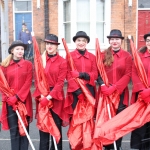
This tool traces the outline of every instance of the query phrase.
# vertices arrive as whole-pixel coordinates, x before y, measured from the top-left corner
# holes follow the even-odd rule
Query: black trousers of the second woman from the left
[[[54,122],[55,122],[55,124],[56,124],[56,126],[57,126],[57,128],[58,128],[58,130],[60,132],[60,135],[61,135],[59,143],[57,144],[57,148],[58,148],[58,150],[62,150],[62,128],[61,128],[62,120],[51,109],[50,109],[50,112],[52,114]],[[47,133],[47,132],[40,131],[40,130],[39,130],[39,133],[40,133],[40,146],[39,146],[39,150],[49,150],[50,134]],[[51,136],[51,148],[50,148],[50,150],[55,150],[54,141],[53,141],[53,137],[52,136]]]

